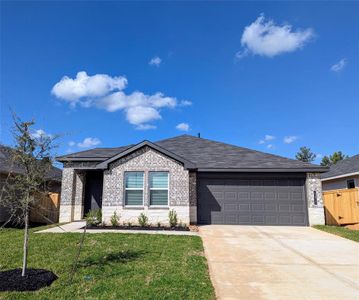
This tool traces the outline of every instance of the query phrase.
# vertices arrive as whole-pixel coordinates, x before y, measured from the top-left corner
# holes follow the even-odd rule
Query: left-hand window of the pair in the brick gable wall
[[[125,205],[143,205],[143,172],[125,173]]]

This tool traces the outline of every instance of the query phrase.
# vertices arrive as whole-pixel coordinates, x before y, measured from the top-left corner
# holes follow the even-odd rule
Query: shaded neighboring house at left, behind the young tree
[[[13,162],[12,152],[14,149],[8,146],[0,145],[0,193],[6,180],[8,180],[9,173],[18,175],[23,173],[23,169],[19,164]],[[52,167],[47,175],[47,186],[50,192],[61,192],[61,177],[62,171],[59,168]],[[7,221],[9,214],[6,207],[0,206],[0,223]]]

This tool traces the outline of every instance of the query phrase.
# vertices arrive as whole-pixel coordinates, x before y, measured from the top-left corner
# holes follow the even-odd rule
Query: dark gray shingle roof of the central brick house
[[[327,169],[273,154],[229,145],[221,142],[181,135],[154,144],[194,163],[198,169],[311,169],[324,172]],[[130,146],[119,148],[96,148],[61,156],[59,161],[96,158],[102,161],[119,154]]]

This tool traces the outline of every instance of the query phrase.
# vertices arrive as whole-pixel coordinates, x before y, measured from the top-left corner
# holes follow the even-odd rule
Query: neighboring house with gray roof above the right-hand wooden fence
[[[359,154],[337,162],[321,178],[323,191],[359,187]]]

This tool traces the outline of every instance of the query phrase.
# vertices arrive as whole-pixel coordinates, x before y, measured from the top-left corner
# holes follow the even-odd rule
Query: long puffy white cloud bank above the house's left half
[[[95,84],[96,83],[96,84]],[[110,77],[106,74],[88,76],[79,72],[75,79],[65,76],[52,89],[52,93],[72,106],[97,107],[108,112],[122,110],[127,121],[137,129],[153,129],[149,122],[161,119],[160,111],[165,108],[189,106],[189,100],[178,101],[175,97],[165,96],[161,92],[146,95],[140,91],[126,94],[125,77]],[[97,87],[97,88],[95,88]]]

